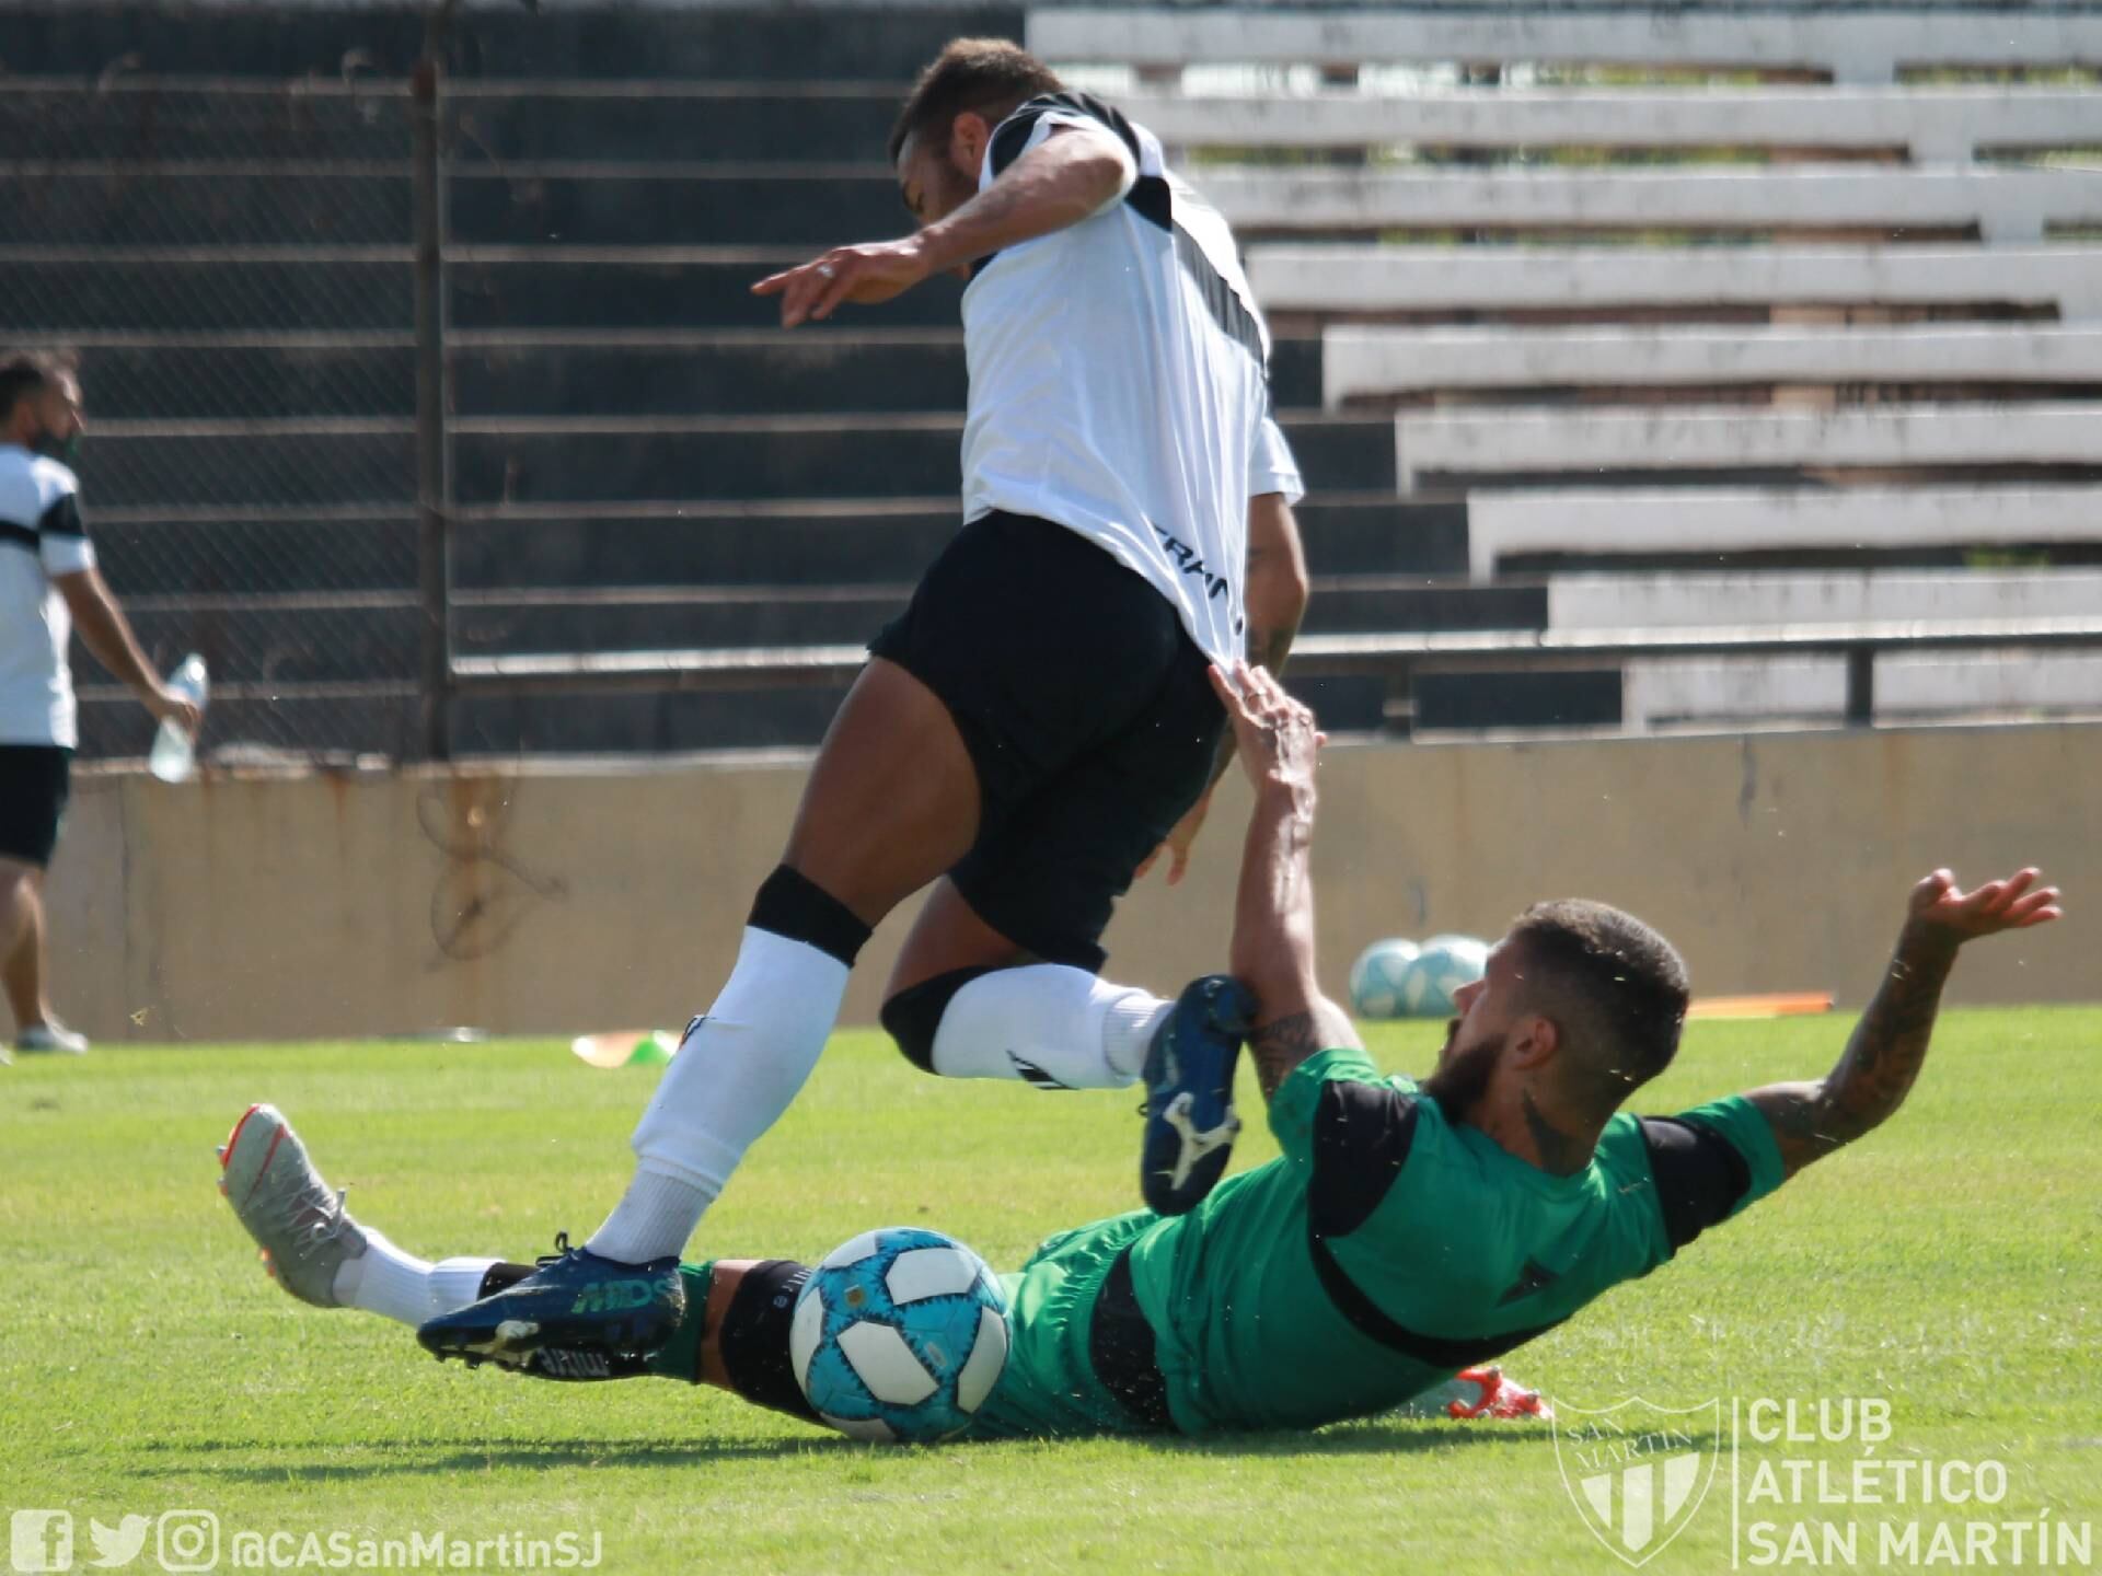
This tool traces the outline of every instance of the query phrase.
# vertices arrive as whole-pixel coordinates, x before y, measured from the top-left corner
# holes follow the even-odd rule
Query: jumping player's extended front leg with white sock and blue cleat
[[[687,1030],[635,1128],[637,1173],[580,1250],[433,1320],[439,1353],[647,1353],[679,1326],[677,1254],[744,1152],[818,1065],[870,929],[965,855],[980,790],[948,708],[870,660],[826,731],[729,983]]]

